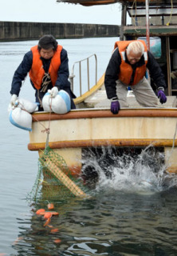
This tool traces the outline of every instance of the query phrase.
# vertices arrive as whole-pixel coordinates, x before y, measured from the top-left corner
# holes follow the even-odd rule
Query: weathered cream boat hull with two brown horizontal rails
[[[50,121],[49,121],[50,120]],[[174,140],[177,111],[175,109],[73,110],[68,114],[33,114],[29,150],[45,149],[45,128],[50,129],[49,146],[61,154],[69,168],[81,170],[81,149],[92,146],[148,146],[164,147],[167,155]],[[37,122],[38,121],[38,122]],[[176,148],[168,162],[170,171],[177,170]]]

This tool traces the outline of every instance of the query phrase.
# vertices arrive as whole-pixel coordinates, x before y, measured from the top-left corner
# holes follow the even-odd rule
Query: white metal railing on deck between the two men
[[[82,95],[82,82],[81,82],[81,72],[82,72],[82,70],[81,70],[81,68],[82,68],[82,66],[81,66],[81,62],[84,62],[84,61],[86,61],[87,62],[87,81],[88,81],[88,90],[90,90],[90,67],[89,67],[89,59],[92,57],[92,56],[94,56],[95,57],[95,84],[96,84],[96,82],[97,82],[97,57],[96,57],[96,54],[92,54],[92,55],[90,55],[90,56],[88,56],[88,58],[84,58],[84,59],[82,59],[81,61],[78,61],[78,62],[74,62],[74,64],[73,64],[73,67],[72,67],[72,70],[71,70],[71,75],[69,76],[69,81],[71,82],[71,88],[72,88],[72,90],[73,90],[73,78],[75,78],[75,75],[74,75],[74,66],[76,65],[76,64],[79,64],[79,81],[80,81],[80,96]]]

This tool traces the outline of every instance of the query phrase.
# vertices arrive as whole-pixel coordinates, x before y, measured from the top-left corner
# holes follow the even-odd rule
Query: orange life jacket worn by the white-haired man
[[[126,85],[130,84],[131,77],[132,77],[132,66],[125,62],[125,50],[130,42],[134,42],[137,40],[132,41],[118,41],[115,43],[114,49],[116,47],[119,48],[120,56],[121,56],[121,64],[120,64],[120,73],[119,73],[119,80],[121,82],[124,82]],[[144,61],[145,64],[143,66],[136,67],[136,73],[133,79],[133,82],[131,86],[136,85],[138,82],[140,82],[141,79],[144,78],[144,74],[146,73],[146,65],[148,63],[148,47],[146,46],[146,43],[144,40],[138,40],[140,42],[143,42],[144,44]]]

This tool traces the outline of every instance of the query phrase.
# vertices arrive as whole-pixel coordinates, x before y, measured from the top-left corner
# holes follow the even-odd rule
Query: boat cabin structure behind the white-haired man
[[[126,24],[127,14],[132,25]],[[120,40],[144,38],[163,70],[166,94],[177,95],[177,1],[128,1],[121,26]]]

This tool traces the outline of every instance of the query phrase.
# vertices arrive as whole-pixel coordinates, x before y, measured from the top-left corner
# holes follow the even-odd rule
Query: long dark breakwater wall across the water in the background
[[[63,38],[119,37],[120,26],[81,23],[0,22],[0,42],[38,40],[44,34]]]

